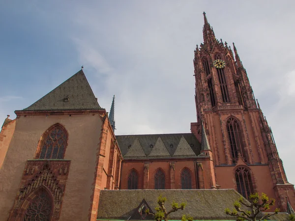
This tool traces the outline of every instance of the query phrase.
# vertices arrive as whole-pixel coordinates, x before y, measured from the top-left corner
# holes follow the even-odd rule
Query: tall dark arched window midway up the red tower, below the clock
[[[240,128],[238,120],[234,117],[230,117],[226,122],[226,127],[231,146],[233,163],[236,163],[238,154],[240,154],[241,157],[245,160],[245,162],[247,162],[243,146],[242,130]]]

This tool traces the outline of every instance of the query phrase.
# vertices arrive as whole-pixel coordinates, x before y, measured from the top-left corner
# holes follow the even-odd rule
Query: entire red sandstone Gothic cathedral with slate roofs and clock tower
[[[146,209],[155,211],[160,194],[167,207],[187,202],[171,220],[234,219],[224,209],[251,193],[275,199],[281,213],[272,219],[294,213],[294,185],[235,44],[216,39],[205,12],[203,36],[190,133],[115,135],[115,96],[108,113],[83,69],[15,119],[7,115],[0,221],[153,220]]]

